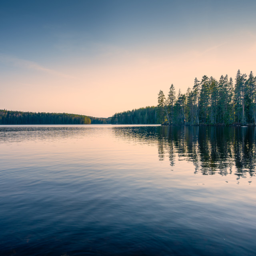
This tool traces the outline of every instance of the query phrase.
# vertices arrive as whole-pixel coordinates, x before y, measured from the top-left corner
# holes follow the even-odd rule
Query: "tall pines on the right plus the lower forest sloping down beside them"
[[[233,82],[228,75],[216,80],[203,76],[192,88],[176,96],[174,85],[167,98],[160,90],[158,106],[116,113],[112,124],[245,125],[256,124],[256,78],[238,70]]]

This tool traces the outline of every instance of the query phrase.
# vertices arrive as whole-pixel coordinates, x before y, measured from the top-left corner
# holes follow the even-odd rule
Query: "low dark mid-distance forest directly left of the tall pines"
[[[148,106],[116,113],[111,118],[111,124],[160,124],[160,122],[157,108]]]

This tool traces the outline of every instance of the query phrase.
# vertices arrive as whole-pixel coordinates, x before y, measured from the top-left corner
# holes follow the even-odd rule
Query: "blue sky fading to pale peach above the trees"
[[[109,117],[256,75],[255,0],[0,2],[0,109]]]

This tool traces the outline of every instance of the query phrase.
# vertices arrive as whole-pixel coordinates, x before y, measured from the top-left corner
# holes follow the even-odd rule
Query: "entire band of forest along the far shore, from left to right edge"
[[[256,77],[238,70],[235,82],[228,75],[216,80],[204,75],[185,94],[176,96],[174,85],[167,98],[160,90],[158,105],[96,118],[67,113],[0,110],[0,124],[162,124],[256,125]]]

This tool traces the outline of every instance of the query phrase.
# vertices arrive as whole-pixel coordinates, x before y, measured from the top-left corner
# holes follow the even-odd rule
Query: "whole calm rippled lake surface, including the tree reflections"
[[[255,255],[256,128],[0,126],[0,255]]]

